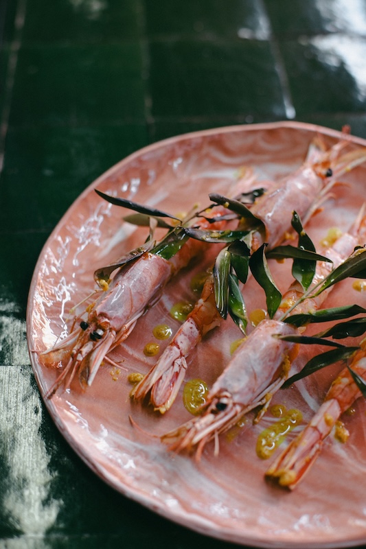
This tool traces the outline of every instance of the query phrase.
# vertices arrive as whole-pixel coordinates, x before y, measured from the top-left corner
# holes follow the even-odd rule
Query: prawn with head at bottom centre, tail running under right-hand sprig
[[[366,217],[357,220],[350,229],[322,255],[332,259],[334,268],[339,266],[351,253],[360,240],[365,240]],[[313,287],[330,272],[330,264],[319,261],[314,275]],[[293,285],[282,300],[282,312],[290,309],[293,297]],[[319,294],[317,301],[306,299],[301,305],[302,312],[319,307],[328,288]],[[295,308],[292,312],[297,312]],[[201,456],[205,443],[235,425],[240,417],[261,406],[255,417],[258,422],[266,412],[273,394],[284,383],[290,371],[291,362],[297,355],[298,345],[273,336],[295,336],[299,329],[279,318],[264,319],[249,334],[248,338],[233,353],[231,361],[214,383],[205,405],[203,414],[181,427],[162,436],[162,441],[170,443],[176,452],[191,449],[197,445],[197,458]]]

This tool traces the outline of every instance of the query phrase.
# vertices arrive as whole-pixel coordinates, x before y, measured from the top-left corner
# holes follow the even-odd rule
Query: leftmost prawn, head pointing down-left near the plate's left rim
[[[247,170],[233,188],[234,196],[253,189],[253,181],[253,172]],[[224,207],[211,205],[205,217],[195,222],[203,229],[223,229],[229,213]],[[90,386],[106,354],[126,340],[138,318],[159,299],[168,281],[201,253],[204,246],[203,242],[188,239],[169,259],[153,253],[154,250],[146,251],[115,270],[113,279],[103,284],[106,290],[89,307],[87,316],[78,318],[78,327],[43,353],[47,365],[65,362],[47,397],[52,397],[67,377],[65,388],[68,389],[77,371],[80,384]]]

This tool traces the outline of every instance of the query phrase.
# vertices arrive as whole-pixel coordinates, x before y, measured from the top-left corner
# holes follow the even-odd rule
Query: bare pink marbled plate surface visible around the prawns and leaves
[[[243,167],[253,167],[259,180],[293,170],[304,160],[317,132],[330,144],[340,138],[332,130],[291,122],[183,135],[132,154],[84,191],[45,244],[30,289],[28,342],[42,395],[57,372],[43,365],[40,351],[65,336],[69,310],[94,288],[95,268],[134,248],[146,235],[146,229],[122,222],[126,212],[100,199],[95,188],[172,213],[186,210],[192,202],[207,204],[209,191],[227,193]],[[350,141],[351,148],[366,145],[361,139],[351,137]],[[350,225],[365,196],[366,166],[342,181],[347,185],[334,189],[334,198],[308,225],[314,242],[330,226],[347,229]],[[206,266],[211,259],[205,258]],[[256,427],[248,422],[230,436],[222,436],[218,457],[209,443],[199,463],[192,456],[172,454],[159,439],[144,433],[163,434],[192,417],[181,395],[163,417],[131,403],[127,375],[148,371],[155,358],[147,358],[143,349],[154,340],[152,327],[169,323],[177,329],[169,310],[177,301],[194,299],[189,281],[202,268],[195,263],[182,272],[139,320],[124,347],[113,353],[121,368],[104,364],[88,390],[74,382],[71,391],[58,390],[53,399],[46,399],[56,425],[91,469],[115,489],[201,533],[260,547],[330,548],[365,543],[366,493],[360,480],[366,474],[366,408],[361,399],[355,413],[344,420],[351,433],[347,444],[329,437],[310,474],[292,493],[264,481],[271,460],[255,454],[258,434],[273,418],[265,418]],[[286,265],[273,268],[284,290],[289,281],[283,274]],[[263,306],[258,288],[246,293],[249,309]],[[334,290],[327,306],[347,301],[366,305],[350,281]],[[231,320],[213,331],[194,353],[187,379],[200,377],[210,385],[229,360],[231,342],[239,337]],[[297,365],[305,358],[303,351]],[[279,391],[275,402],[295,406],[304,420],[309,419],[335,371],[322,371],[297,388]],[[144,432],[131,425],[129,415]]]

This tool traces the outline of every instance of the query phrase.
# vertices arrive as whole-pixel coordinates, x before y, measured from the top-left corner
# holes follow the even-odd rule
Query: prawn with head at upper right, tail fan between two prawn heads
[[[251,213],[262,224],[260,229],[252,233],[251,251],[264,242],[268,243],[269,248],[282,242],[291,229],[290,216],[286,212],[296,209],[301,217],[310,217],[336,177],[366,159],[365,150],[356,150],[339,158],[339,152],[345,144],[345,141],[341,141],[334,148],[324,151],[323,143],[312,143],[304,165],[271,185],[271,190],[255,201]],[[179,328],[157,364],[133,388],[131,396],[135,400],[142,400],[150,393],[150,402],[155,410],[164,413],[172,406],[185,377],[188,354],[192,353],[208,331],[220,325],[213,285],[213,277],[209,277],[193,312]]]

